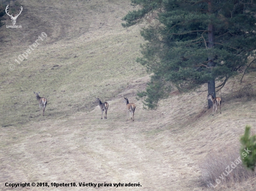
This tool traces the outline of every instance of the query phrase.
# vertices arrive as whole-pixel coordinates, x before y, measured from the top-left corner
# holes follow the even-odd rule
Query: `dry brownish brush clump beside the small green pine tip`
[[[245,169],[242,165],[239,144],[233,144],[209,153],[201,165],[202,181],[208,187],[227,188],[250,178],[256,177],[256,172]]]

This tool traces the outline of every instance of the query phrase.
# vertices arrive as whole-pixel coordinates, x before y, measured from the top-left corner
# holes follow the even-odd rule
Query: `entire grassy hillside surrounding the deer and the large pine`
[[[246,96],[256,89],[255,72],[242,84],[241,75],[230,79],[218,92],[222,114],[212,116],[204,108],[205,92],[175,91],[156,110],[145,110],[135,99],[149,80],[135,62],[143,24],[121,27],[121,18],[133,9],[129,0],[20,5],[22,28],[0,28],[0,190],[9,190],[6,182],[140,182],[141,187],[101,189],[213,190],[202,182],[202,163],[220,148],[224,153],[233,148],[246,124],[256,128],[256,99]],[[47,38],[27,60],[15,63],[41,32]],[[9,64],[15,69],[8,70]],[[48,100],[45,117],[34,91]],[[127,117],[124,96],[137,105],[135,121]],[[95,97],[109,103],[107,120],[100,119]],[[253,191],[255,183],[249,178],[215,190]]]

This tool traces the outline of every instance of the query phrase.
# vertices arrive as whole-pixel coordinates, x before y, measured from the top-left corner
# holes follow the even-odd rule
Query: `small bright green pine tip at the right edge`
[[[244,135],[241,137],[242,144],[240,149],[243,165],[250,170],[254,170],[256,166],[256,135],[250,136],[249,126],[245,127]]]

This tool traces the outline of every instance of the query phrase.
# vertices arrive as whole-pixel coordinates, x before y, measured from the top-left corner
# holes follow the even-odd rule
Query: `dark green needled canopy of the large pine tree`
[[[216,96],[216,89],[254,56],[256,0],[131,1],[140,9],[123,18],[124,27],[154,18],[141,30],[146,43],[137,58],[153,73],[146,91],[138,93],[147,96],[148,108],[168,96],[171,84],[190,90],[208,83],[208,93]],[[222,81],[217,87],[216,80]]]

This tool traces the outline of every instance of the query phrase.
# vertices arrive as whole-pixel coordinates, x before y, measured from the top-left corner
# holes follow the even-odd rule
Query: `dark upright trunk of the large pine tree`
[[[212,0],[208,2],[208,11],[209,14],[212,14]],[[208,48],[214,48],[214,42],[215,42],[215,36],[214,36],[214,25],[210,22],[208,25]],[[211,52],[211,51],[209,51]],[[209,67],[214,67],[214,56],[211,53],[208,56],[208,66]],[[216,97],[216,92],[215,92],[215,78],[209,80],[208,82],[208,94],[213,94],[214,97]],[[213,106],[213,103],[211,100],[208,100],[208,109]]]

